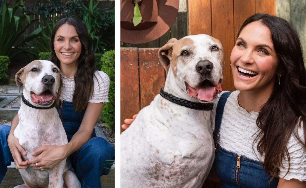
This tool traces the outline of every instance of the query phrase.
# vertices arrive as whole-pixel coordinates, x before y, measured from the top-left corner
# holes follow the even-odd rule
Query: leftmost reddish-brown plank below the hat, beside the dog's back
[[[121,123],[139,112],[138,49],[121,48],[120,101]],[[121,132],[123,129],[121,129]]]

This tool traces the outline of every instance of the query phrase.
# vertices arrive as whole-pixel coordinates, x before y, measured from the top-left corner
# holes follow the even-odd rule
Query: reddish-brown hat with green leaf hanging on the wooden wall
[[[178,7],[179,0],[121,0],[121,41],[142,44],[161,37],[174,23]]]

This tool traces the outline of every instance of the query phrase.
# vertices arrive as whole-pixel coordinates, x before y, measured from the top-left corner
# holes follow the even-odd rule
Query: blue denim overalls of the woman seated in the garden
[[[63,122],[68,141],[79,129],[84,112],[75,112],[72,103],[63,101],[58,107],[60,119]],[[13,157],[9,151],[7,144],[7,137],[9,134],[10,126],[0,126],[0,183],[4,178],[7,165],[11,164]],[[88,140],[78,151],[72,153],[68,158],[76,172],[76,176],[80,180],[82,187],[101,187],[100,176],[107,175],[114,160],[115,151],[114,147],[109,144],[105,139],[96,137],[95,131]],[[30,168],[30,167],[29,167]]]

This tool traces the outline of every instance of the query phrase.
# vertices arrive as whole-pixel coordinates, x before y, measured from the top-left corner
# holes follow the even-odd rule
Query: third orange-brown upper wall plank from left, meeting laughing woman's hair
[[[244,21],[255,14],[255,0],[234,0],[234,41]]]

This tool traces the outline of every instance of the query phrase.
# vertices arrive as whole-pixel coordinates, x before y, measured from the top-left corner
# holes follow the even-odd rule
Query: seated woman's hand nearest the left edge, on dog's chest
[[[13,134],[9,134],[7,138],[7,143],[9,145],[9,150],[12,153],[13,159],[15,161],[16,169],[26,169],[28,168],[28,161],[22,161],[21,154],[26,155],[27,152],[24,148],[19,144],[19,139],[14,137]]]

